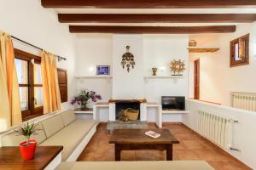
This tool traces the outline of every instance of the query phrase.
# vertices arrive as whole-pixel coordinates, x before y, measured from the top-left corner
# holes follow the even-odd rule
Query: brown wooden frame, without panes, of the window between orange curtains
[[[20,87],[28,88],[28,110],[21,111],[22,121],[27,121],[37,116],[42,116],[44,114],[44,107],[34,107],[34,88],[35,87],[43,87],[43,84],[34,84],[34,68],[31,60],[34,59],[34,63],[41,65],[41,58],[34,54],[29,54],[20,49],[15,48],[15,59],[21,59],[27,61],[27,76],[28,82],[27,84],[20,84]]]

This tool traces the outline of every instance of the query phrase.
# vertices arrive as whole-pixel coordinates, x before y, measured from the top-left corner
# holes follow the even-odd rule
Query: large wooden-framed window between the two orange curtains
[[[23,121],[43,115],[40,63],[40,57],[15,49],[15,65],[20,86],[20,108]]]

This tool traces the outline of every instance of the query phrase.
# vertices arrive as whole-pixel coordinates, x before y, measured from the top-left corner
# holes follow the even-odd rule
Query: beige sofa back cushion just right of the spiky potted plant
[[[61,115],[49,117],[48,119],[42,121],[42,124],[44,126],[44,132],[47,138],[54,135],[64,127],[64,122]]]

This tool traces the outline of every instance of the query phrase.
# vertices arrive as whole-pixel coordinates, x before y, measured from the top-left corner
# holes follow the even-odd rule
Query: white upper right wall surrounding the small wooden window
[[[250,65],[230,68],[230,41],[250,33]],[[190,35],[199,48],[220,48],[214,54],[190,54],[190,64],[194,58],[201,59],[201,99],[230,105],[230,92],[256,92],[253,79],[256,70],[256,23],[241,24],[235,33]],[[193,71],[191,70],[190,72]],[[193,77],[193,75],[190,75]],[[190,81],[190,86],[193,87]],[[193,94],[190,90],[190,97]]]

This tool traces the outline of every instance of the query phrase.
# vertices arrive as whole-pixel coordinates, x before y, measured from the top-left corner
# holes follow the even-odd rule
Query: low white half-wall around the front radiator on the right
[[[225,150],[253,169],[256,168],[256,136],[253,135],[253,132],[256,130],[256,115],[254,112],[243,111],[227,106],[207,104],[196,100],[189,100],[187,103],[189,114],[183,115],[183,123],[195,130],[195,132],[198,132],[197,118],[199,110],[238,120],[238,123],[233,124],[232,147],[240,149],[241,152]]]

